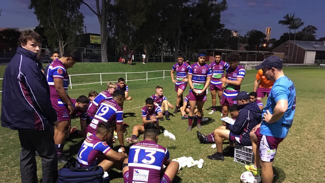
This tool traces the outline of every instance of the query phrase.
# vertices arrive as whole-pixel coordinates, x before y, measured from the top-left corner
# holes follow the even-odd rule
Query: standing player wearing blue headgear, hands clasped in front
[[[189,112],[187,131],[192,130],[195,105],[197,107],[197,128],[201,128],[201,119],[203,115],[203,104],[206,101],[206,89],[211,80],[211,68],[205,62],[205,54],[197,54],[197,62],[191,64],[188,69],[189,90]]]

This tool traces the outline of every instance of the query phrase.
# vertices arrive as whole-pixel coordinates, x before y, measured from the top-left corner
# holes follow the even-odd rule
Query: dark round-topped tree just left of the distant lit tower
[[[255,29],[248,30],[245,34],[247,37],[247,44],[246,48],[248,50],[259,50],[260,44],[264,41],[266,35]]]

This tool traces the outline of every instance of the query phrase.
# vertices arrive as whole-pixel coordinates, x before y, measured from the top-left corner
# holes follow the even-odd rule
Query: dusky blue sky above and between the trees
[[[86,1],[94,5],[94,0]],[[265,27],[270,26],[271,37],[279,38],[288,29],[278,24],[278,20],[286,13],[295,12],[304,22],[302,27],[314,25],[318,28],[316,38],[325,36],[325,0],[227,0],[227,3],[228,9],[221,13],[221,23],[240,35],[250,29],[265,32]],[[36,16],[28,5],[29,0],[0,0],[0,27],[37,26]],[[80,11],[87,32],[99,33],[97,17],[85,5],[81,5]]]

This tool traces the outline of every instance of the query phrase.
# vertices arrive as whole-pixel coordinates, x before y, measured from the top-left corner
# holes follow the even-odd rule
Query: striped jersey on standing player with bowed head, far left
[[[54,86],[54,78],[63,79],[63,88],[65,92],[67,92],[67,88],[69,86],[69,76],[67,74],[65,66],[59,59],[55,59],[52,63],[49,64],[46,75],[50,97],[59,98],[60,96],[57,94]]]

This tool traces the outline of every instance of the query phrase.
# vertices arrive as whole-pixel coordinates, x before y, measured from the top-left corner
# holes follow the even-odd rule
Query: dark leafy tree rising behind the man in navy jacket
[[[39,25],[44,27],[48,43],[58,45],[61,56],[76,34],[82,32],[80,4],[81,0],[30,0],[29,8],[34,9]]]

